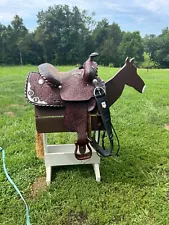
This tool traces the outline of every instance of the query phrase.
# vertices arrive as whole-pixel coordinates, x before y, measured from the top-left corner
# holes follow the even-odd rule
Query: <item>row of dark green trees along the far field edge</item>
[[[94,21],[93,15],[77,6],[54,5],[37,15],[37,27],[30,32],[16,15],[10,25],[0,23],[0,65],[54,65],[83,63],[91,52],[98,52],[101,65],[122,66],[126,56],[135,57],[139,66],[144,53],[154,66],[169,67],[169,29],[141,37],[139,31],[124,32],[107,19]],[[148,65],[147,65],[148,66]]]

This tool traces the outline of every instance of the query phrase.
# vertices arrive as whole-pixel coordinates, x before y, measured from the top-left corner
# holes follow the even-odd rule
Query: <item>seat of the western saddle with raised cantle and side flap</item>
[[[59,72],[53,65],[44,63],[38,66],[40,75],[51,86],[60,89],[64,101],[88,101],[93,97],[93,85],[83,79],[84,69]]]

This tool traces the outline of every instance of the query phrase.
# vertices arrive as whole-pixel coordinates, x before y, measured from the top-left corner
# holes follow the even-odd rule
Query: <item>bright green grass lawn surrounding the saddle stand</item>
[[[101,158],[101,183],[91,165],[54,168],[51,185],[33,197],[32,184],[45,177],[45,165],[36,158],[34,108],[24,97],[24,85],[27,73],[36,70],[0,67],[0,146],[29,205],[31,224],[168,225],[169,131],[164,124],[169,123],[169,70],[139,69],[145,93],[126,87],[111,107],[121,151],[118,158]],[[107,80],[117,70],[100,67],[99,74]],[[0,224],[25,224],[24,204],[2,166]]]

